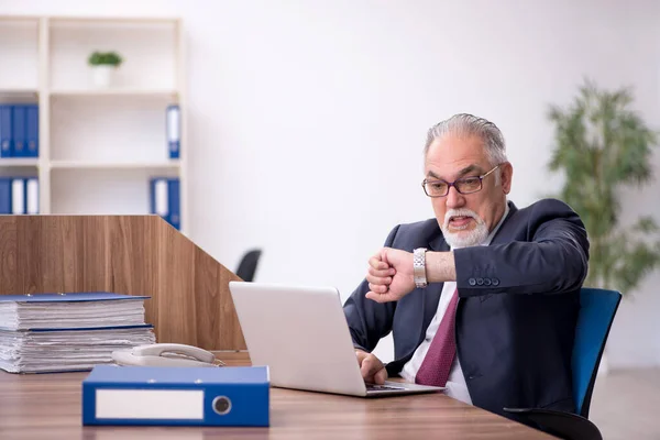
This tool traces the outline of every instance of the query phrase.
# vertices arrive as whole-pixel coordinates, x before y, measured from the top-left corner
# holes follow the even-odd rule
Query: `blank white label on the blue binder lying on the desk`
[[[97,389],[96,417],[204,420],[204,391]]]

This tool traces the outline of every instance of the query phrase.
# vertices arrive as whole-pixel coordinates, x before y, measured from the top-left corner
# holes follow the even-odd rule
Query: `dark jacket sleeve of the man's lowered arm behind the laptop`
[[[385,246],[389,248],[394,243],[394,238],[398,231],[395,227],[387,240]],[[360,286],[346,299],[343,309],[353,339],[353,345],[356,349],[371,352],[376,344],[392,331],[392,321],[396,302],[376,302],[365,298],[369,292],[369,282],[363,279]]]

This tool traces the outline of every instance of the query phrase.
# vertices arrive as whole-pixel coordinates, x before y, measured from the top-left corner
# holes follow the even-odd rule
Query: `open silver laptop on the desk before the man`
[[[268,365],[273,386],[363,397],[444,389],[366,385],[336,288],[243,282],[229,288],[252,364]]]

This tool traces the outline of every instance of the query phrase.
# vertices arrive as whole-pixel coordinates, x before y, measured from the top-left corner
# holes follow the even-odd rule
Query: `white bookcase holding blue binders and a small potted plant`
[[[150,178],[179,177],[188,231],[182,21],[162,18],[0,15],[0,102],[38,103],[38,158],[0,158],[0,176],[38,176],[41,213],[148,213]],[[95,51],[123,63],[96,88]],[[170,160],[166,108],[182,114]]]

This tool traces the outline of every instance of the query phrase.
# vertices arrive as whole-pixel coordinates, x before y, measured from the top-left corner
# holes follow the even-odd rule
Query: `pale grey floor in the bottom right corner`
[[[660,369],[598,376],[590,419],[604,440],[660,440]]]

